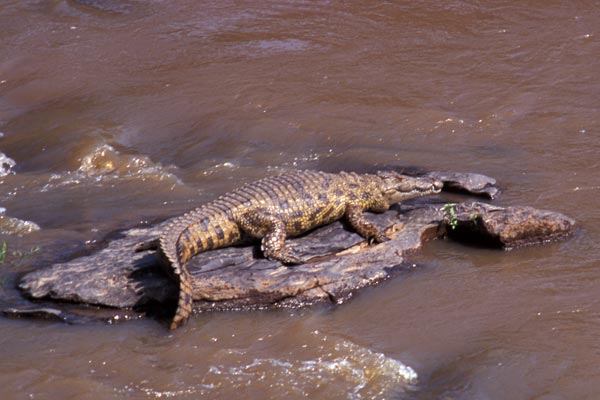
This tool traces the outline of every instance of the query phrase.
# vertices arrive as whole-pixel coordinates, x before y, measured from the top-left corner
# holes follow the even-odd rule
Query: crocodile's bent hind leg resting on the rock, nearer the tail
[[[269,260],[288,265],[303,264],[304,260],[285,247],[286,230],[283,221],[265,211],[248,211],[236,221],[253,237],[262,238],[260,249]]]

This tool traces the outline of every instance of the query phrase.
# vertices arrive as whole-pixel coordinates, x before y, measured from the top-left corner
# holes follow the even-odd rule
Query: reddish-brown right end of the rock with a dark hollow
[[[532,207],[495,207],[484,203],[447,205],[440,233],[461,241],[506,249],[561,239],[575,221]]]

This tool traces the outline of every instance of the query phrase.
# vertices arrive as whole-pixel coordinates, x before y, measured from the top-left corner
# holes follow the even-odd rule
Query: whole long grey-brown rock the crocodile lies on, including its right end
[[[470,176],[463,175],[465,182]],[[258,245],[193,257],[188,267],[195,311],[341,303],[354,291],[406,268],[407,254],[437,236],[467,241],[475,237],[496,247],[515,247],[561,238],[575,226],[572,219],[550,211],[478,202],[444,205],[436,197],[368,218],[392,240],[368,245],[336,222],[289,241],[292,250],[308,260],[298,266],[264,259]],[[30,272],[23,276],[20,288],[33,299],[119,309],[159,304],[164,310],[167,303],[174,309],[177,287],[158,266],[156,253],[134,251],[138,243],[158,237],[168,222],[126,230],[90,255]],[[171,307],[167,311],[172,312]],[[32,314],[31,308],[26,312]],[[17,313],[11,308],[11,315]]]

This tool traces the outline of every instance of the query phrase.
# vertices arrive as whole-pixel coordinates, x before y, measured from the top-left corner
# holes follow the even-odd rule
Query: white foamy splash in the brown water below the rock
[[[255,358],[237,366],[212,366],[202,383],[204,387],[225,384],[245,389],[260,381],[269,381],[270,387],[293,397],[311,398],[315,392],[332,391],[344,393],[340,398],[358,400],[405,392],[417,382],[417,374],[398,360],[343,340],[315,359]]]

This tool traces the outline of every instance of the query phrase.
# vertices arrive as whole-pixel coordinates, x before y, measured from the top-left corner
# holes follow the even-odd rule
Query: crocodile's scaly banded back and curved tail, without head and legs
[[[379,178],[354,173],[289,171],[246,184],[175,219],[160,237],[160,248],[179,281],[179,301],[171,329],[192,311],[192,280],[185,263],[195,254],[238,243],[236,220],[248,212],[269,212],[284,222],[288,236],[340,219],[351,201],[369,208]],[[375,199],[375,200],[374,200]]]

